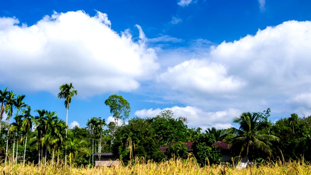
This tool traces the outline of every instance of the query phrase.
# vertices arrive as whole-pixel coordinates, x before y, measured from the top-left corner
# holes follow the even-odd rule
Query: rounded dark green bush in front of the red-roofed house
[[[216,142],[214,135],[201,134],[196,137],[192,144],[193,154],[201,165],[214,164],[222,161],[221,150],[212,146]]]

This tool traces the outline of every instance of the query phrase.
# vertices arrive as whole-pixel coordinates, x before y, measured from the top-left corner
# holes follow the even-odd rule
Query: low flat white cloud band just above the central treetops
[[[155,117],[162,110],[172,110],[176,117],[182,116],[188,119],[189,127],[201,127],[203,130],[208,127],[228,128],[234,117],[239,117],[240,110],[229,108],[223,111],[206,112],[197,107],[173,106],[164,109],[142,109],[135,112],[138,117]]]

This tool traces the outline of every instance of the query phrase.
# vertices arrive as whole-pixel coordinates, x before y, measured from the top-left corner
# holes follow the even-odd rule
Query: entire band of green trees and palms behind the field
[[[65,99],[67,118],[71,98],[77,94],[71,83],[60,87],[58,97]],[[115,122],[105,123],[104,119],[93,117],[86,127],[69,129],[67,121],[59,119],[55,111],[34,110],[23,102],[24,98],[7,88],[0,90],[1,119],[4,114],[7,116],[0,122],[0,159],[6,163],[89,166],[95,163],[92,154],[98,152],[113,152],[127,165],[135,157],[143,157],[145,163],[176,157],[186,160],[189,154],[185,142],[190,141],[192,155],[201,166],[223,161],[221,149],[212,145],[216,141],[229,142],[232,157],[248,156],[253,162],[311,161],[310,116],[292,114],[271,123],[268,108],[242,113],[233,121],[239,128],[213,127],[202,133],[201,128],[188,128],[187,116],[175,117],[170,110],[152,118],[129,119],[130,104],[122,96],[111,95],[103,105],[110,108]],[[126,119],[127,124],[123,123]],[[169,149],[164,153],[160,146]]]

